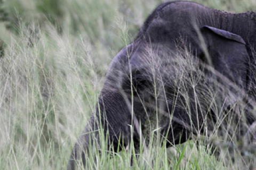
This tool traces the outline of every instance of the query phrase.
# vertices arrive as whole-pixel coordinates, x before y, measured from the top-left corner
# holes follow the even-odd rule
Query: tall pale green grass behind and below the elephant
[[[195,1],[229,12],[256,9],[255,0]],[[0,1],[0,169],[66,169],[94,111],[108,64],[161,2]],[[92,166],[253,169],[226,164],[202,148],[193,141],[171,149],[156,147],[132,167],[130,148],[113,159],[99,156]],[[153,167],[147,166],[151,160]]]

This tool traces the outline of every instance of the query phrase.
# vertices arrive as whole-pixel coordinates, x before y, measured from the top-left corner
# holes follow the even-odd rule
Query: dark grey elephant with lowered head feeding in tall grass
[[[246,108],[244,122],[252,125],[254,49],[255,12],[229,13],[188,1],[159,5],[111,61],[95,114],[73,148],[68,169],[76,169],[78,160],[86,167],[100,131],[115,151],[131,138],[138,146],[147,140],[156,115],[166,147],[205,133],[221,113],[236,114],[230,108],[239,101]]]

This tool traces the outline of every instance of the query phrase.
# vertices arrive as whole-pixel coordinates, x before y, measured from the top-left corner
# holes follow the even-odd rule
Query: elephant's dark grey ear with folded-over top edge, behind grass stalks
[[[245,95],[242,89],[246,89],[246,63],[249,59],[245,41],[239,35],[209,26],[202,27],[201,33],[205,46],[201,43],[203,53],[200,57],[213,68],[217,82],[228,88],[220,90],[219,96],[221,101],[225,100],[226,107]]]

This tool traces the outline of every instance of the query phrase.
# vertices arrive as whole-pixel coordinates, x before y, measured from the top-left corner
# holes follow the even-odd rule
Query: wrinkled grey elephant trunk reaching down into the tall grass
[[[94,150],[100,150],[105,139],[108,146],[113,145],[116,151],[130,141],[131,133],[129,124],[131,114],[129,104],[118,90],[103,89],[96,105],[96,113],[91,116],[82,135],[79,137],[68,163],[68,170],[79,169],[87,166],[87,157],[95,157]]]

